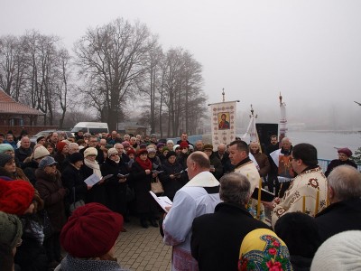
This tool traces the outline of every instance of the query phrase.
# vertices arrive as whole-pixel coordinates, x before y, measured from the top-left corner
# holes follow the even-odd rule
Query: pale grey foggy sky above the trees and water
[[[361,129],[361,1],[8,1],[0,35],[56,34],[71,50],[88,27],[123,17],[145,23],[164,51],[180,46],[203,65],[208,103],[239,99],[259,122]],[[247,122],[246,117],[244,117]]]

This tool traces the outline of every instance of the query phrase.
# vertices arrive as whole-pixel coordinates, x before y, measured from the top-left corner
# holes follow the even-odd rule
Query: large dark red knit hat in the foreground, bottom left
[[[105,255],[116,243],[123,228],[123,217],[99,203],[88,203],[74,210],[61,229],[60,244],[72,257]]]

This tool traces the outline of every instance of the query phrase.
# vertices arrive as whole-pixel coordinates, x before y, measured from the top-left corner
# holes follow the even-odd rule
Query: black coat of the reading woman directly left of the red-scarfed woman
[[[106,162],[100,165],[100,170],[103,176],[113,174],[112,177],[106,179],[106,207],[110,210],[119,212],[125,215],[126,208],[126,184],[127,182],[119,182],[118,173],[123,175],[128,173],[126,164],[121,160],[118,164],[109,158]],[[128,178],[126,178],[128,180]]]

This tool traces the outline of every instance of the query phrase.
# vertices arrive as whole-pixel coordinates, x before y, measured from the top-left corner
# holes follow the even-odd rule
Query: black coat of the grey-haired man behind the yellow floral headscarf
[[[199,270],[238,270],[239,249],[254,229],[270,229],[244,206],[221,202],[215,213],[193,220],[190,248]]]

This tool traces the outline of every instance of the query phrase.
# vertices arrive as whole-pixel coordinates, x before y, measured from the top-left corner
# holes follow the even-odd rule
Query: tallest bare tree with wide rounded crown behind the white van
[[[116,19],[89,29],[75,44],[79,74],[92,86],[90,91],[84,89],[84,94],[97,110],[106,108],[110,129],[116,128],[117,113],[134,90],[136,80],[147,70],[146,53],[155,42],[144,24]]]

